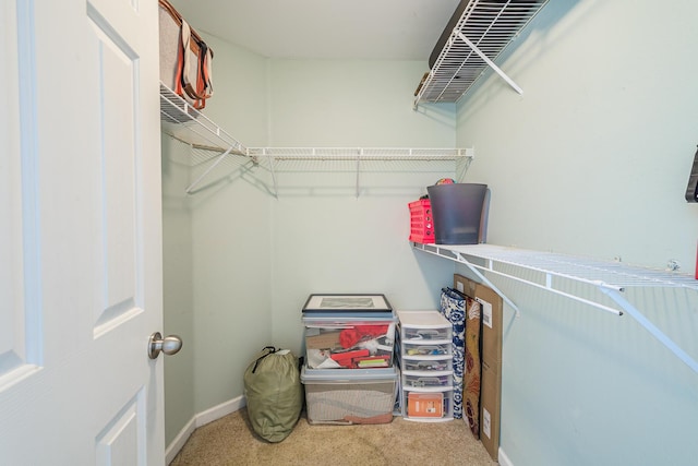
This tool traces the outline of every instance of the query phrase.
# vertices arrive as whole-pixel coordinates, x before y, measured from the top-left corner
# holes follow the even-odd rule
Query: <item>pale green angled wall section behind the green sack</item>
[[[266,60],[216,37],[206,41],[215,94],[205,115],[243,144],[264,145]],[[265,176],[231,157],[191,196],[197,413],[242,395],[245,367],[270,340],[270,199],[257,187]]]

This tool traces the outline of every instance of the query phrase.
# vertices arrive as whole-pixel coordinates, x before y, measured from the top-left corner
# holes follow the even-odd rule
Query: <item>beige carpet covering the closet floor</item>
[[[243,408],[203,426],[170,463],[184,465],[468,465],[492,466],[462,419],[413,422],[396,417],[374,426],[312,426],[305,415],[279,443],[257,437]]]

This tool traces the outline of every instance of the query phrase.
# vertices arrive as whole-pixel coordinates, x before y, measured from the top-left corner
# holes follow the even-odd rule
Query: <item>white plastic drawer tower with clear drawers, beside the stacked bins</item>
[[[397,311],[405,419],[447,421],[453,416],[453,325],[438,311]]]

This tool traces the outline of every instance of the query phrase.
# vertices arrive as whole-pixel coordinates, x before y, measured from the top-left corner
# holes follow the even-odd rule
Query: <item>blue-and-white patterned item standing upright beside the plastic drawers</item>
[[[465,371],[466,299],[453,288],[441,290],[441,313],[453,325],[454,418],[462,418],[462,375]]]

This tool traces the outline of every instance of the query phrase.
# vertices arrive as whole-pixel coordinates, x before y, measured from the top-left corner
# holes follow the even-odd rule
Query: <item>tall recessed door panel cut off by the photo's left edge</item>
[[[0,5],[0,17],[16,14],[13,2]],[[3,26],[0,56],[7,60],[0,72],[0,88],[17,89],[21,70],[16,23],[8,21]],[[23,164],[20,154],[20,98],[19,93],[0,93],[0,390],[33,373],[39,356],[40,315],[32,298],[36,283],[25,277],[32,270],[26,261],[34,256],[28,249],[35,246],[36,225],[23,213],[35,210],[36,170]],[[31,141],[24,145],[31,146]]]

